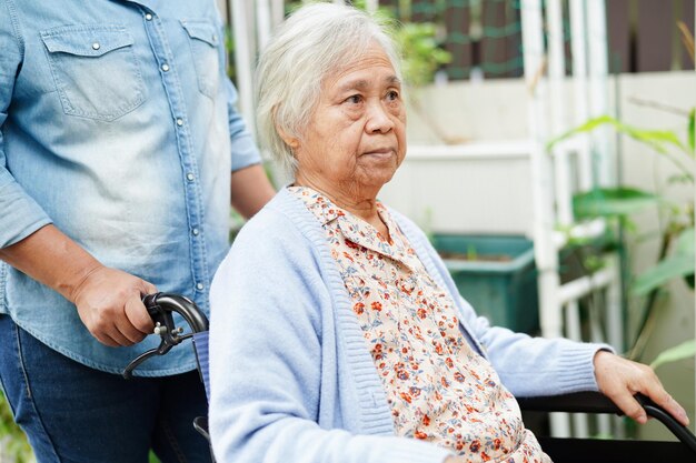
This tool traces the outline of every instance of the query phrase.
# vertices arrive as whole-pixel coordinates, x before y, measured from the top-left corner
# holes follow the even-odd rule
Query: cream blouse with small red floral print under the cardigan
[[[451,449],[458,462],[550,462],[517,402],[459,328],[454,301],[430,278],[387,209],[374,227],[307,187],[290,187],[321,223],[352,301],[397,435]]]

